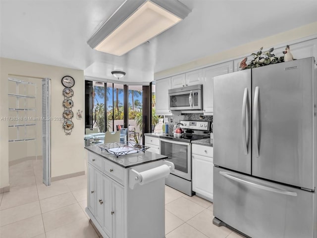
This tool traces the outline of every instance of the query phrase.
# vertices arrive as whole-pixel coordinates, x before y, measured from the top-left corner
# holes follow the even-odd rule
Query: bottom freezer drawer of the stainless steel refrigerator
[[[217,167],[213,173],[217,219],[252,238],[314,238],[315,193]]]

